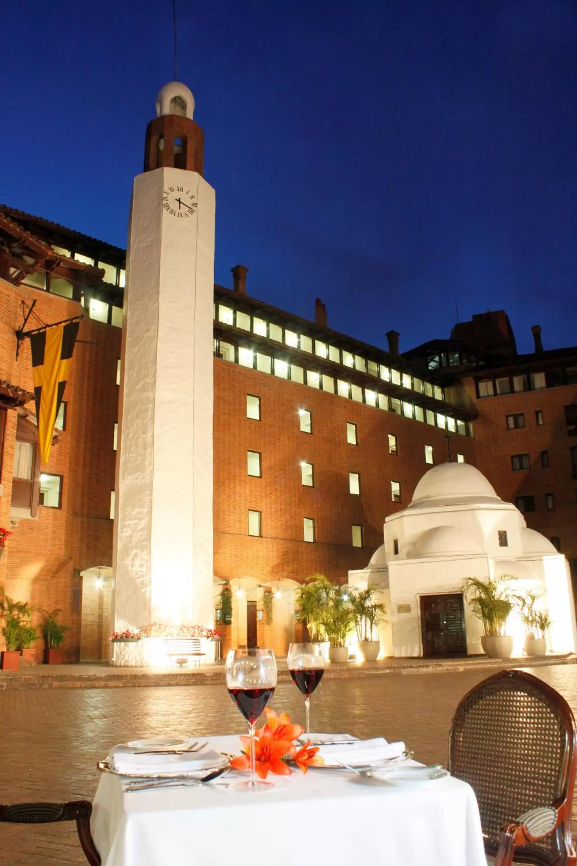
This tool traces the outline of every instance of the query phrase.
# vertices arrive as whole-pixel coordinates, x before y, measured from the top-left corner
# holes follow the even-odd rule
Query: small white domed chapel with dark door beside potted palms
[[[429,469],[403,511],[385,520],[385,543],[349,585],[372,585],[387,606],[381,626],[385,656],[459,656],[483,652],[483,627],[463,597],[466,577],[508,575],[518,595],[536,591],[553,621],[548,650],[577,647],[574,599],[567,559],[523,514],[499,499],[489,481],[468,463]],[[508,631],[513,654],[523,654],[518,613]]]

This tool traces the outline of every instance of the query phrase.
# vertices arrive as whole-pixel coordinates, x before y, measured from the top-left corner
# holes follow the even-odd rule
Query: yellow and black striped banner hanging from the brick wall
[[[40,460],[48,463],[54,423],[64,395],[80,322],[30,334]]]

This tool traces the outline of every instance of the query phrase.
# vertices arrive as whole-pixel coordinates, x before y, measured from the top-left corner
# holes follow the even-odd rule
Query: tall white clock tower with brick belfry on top
[[[115,630],[213,624],[215,191],[189,88],[158,94],[134,180],[114,522]]]

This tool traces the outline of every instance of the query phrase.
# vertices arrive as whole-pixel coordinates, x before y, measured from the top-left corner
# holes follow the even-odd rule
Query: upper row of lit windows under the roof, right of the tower
[[[384,382],[392,382],[393,385],[401,385],[403,388],[418,391],[420,394],[428,394],[429,397],[436,397],[438,400],[443,399],[443,389],[439,385],[423,382],[422,379],[415,378],[410,373],[394,370],[392,367],[377,361],[363,358],[355,352],[347,352],[338,346],[330,346],[330,343],[322,339],[314,339],[305,333],[289,330],[284,326],[276,325],[249,313],[235,310],[233,307],[215,304],[215,320],[223,325],[237,327],[240,331],[247,331],[260,337],[272,339],[276,343],[290,346],[292,349],[299,349],[309,355],[316,355],[317,358],[332,361],[334,364],[349,367],[351,370],[369,373],[370,376],[381,378]]]

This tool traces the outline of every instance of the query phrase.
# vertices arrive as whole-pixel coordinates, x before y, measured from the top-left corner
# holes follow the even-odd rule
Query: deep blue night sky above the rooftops
[[[504,307],[574,346],[574,0],[176,0],[215,280],[377,346]],[[170,0],[3,4],[0,201],[125,246]]]

